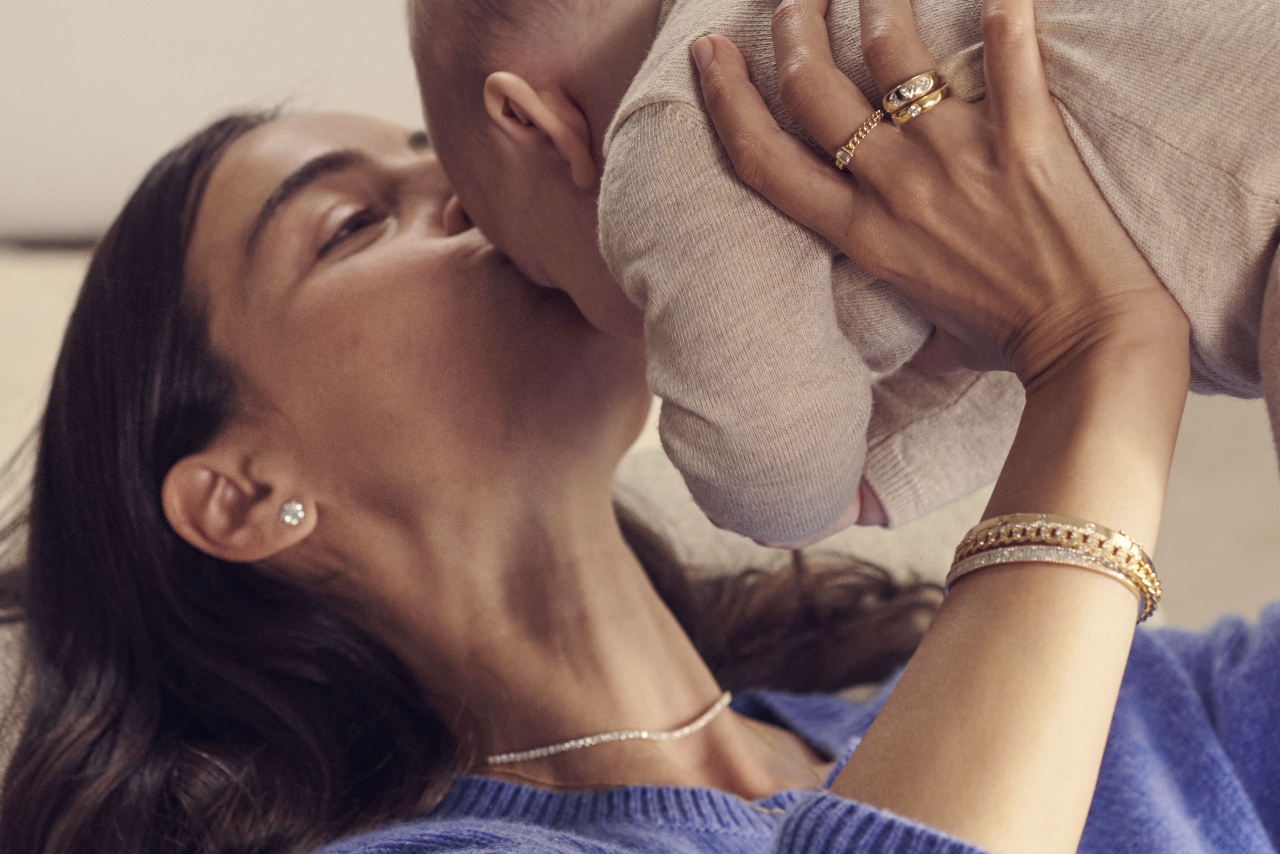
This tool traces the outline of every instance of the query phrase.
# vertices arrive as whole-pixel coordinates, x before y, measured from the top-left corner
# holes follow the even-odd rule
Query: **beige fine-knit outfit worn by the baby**
[[[732,38],[800,133],[778,101],[776,5],[668,0],[605,134],[599,222],[611,270],[644,309],[667,453],[713,521],[792,542],[835,521],[859,476],[891,524],[991,481],[1020,389],[1007,374],[904,366],[928,324],[735,177],[689,49],[708,32]],[[970,100],[983,93],[979,8],[914,4],[924,44]],[[1076,147],[1192,320],[1196,388],[1256,397],[1268,273],[1280,288],[1280,0],[1041,0],[1036,12]],[[878,102],[858,0],[832,0],[828,28],[837,64]]]

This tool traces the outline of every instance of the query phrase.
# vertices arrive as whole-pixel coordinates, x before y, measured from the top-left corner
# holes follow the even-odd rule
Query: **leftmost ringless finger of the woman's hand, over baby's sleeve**
[[[704,36],[692,52],[703,101],[739,178],[792,219],[845,239],[865,207],[852,182],[778,127],[733,42]]]

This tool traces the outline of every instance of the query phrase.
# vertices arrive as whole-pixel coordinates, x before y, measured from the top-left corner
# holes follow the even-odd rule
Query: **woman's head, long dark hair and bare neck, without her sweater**
[[[307,849],[577,717],[664,722],[717,681],[829,689],[909,654],[927,586],[815,576],[812,597],[739,584],[701,608],[714,592],[668,572],[713,679],[608,502],[648,406],[640,348],[498,255],[420,133],[303,115],[197,134],[105,237],[59,360],[8,579],[33,672],[0,848]],[[778,649],[735,649],[788,616]],[[817,677],[772,663],[841,631],[865,640]],[[733,750],[698,780],[817,785],[795,736],[716,729]],[[650,776],[699,764],[677,758]]]

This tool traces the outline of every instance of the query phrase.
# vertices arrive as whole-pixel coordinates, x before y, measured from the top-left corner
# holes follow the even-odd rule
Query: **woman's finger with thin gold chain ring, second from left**
[[[873,108],[836,68],[826,13],[827,0],[782,0],[773,13],[773,54],[782,104],[835,154]]]

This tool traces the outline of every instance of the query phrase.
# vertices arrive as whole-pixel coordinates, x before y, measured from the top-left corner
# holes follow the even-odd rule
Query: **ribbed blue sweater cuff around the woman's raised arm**
[[[980,849],[829,793],[805,799],[787,816],[777,854],[980,854]]]

